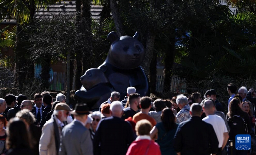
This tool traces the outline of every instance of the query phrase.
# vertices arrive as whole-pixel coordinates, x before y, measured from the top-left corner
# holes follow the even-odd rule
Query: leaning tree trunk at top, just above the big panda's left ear
[[[124,30],[123,30],[123,23],[120,17],[119,9],[116,3],[116,0],[110,0],[110,9],[114,18],[115,22],[115,29],[117,31],[118,36],[123,36],[124,35]]]

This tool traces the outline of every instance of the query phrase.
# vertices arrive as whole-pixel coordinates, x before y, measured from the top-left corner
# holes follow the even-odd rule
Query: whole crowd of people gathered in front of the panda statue
[[[63,94],[7,94],[0,98],[0,155],[254,155],[256,94],[232,83],[227,91],[227,114],[215,90],[153,101],[128,87],[122,101],[112,92],[93,111],[86,103],[71,109]],[[250,150],[230,147],[237,134],[251,135]]]

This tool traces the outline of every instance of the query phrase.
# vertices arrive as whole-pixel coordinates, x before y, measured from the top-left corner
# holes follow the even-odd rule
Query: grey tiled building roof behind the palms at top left
[[[101,5],[91,5],[91,17],[94,20],[100,19],[100,12],[102,10]],[[56,3],[50,5],[48,10],[44,9],[43,7],[39,8],[35,13],[36,19],[42,19],[45,17],[51,18],[52,13],[61,12],[61,11],[68,11],[68,12],[76,12],[76,1],[61,1],[61,3]],[[15,24],[16,20],[14,19],[4,19],[2,24]]]

